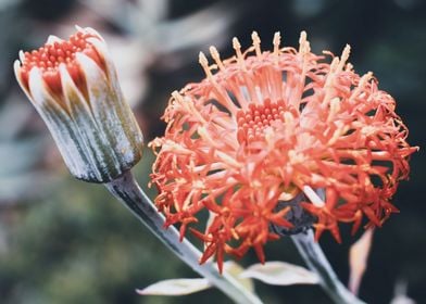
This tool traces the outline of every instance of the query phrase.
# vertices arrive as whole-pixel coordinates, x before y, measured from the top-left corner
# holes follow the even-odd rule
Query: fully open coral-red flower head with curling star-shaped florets
[[[252,39],[242,52],[234,38],[236,56],[225,61],[212,47],[213,65],[200,53],[206,78],[173,93],[165,136],[150,143],[166,224],[180,224],[181,236],[192,226],[204,242],[201,263],[215,254],[220,267],[224,253],[250,246],[264,261],[263,245],[278,238],[270,225],[291,227],[279,202],[301,193],[316,237],[328,229],[340,241],[338,223],[356,230],[363,215],[380,226],[397,211],[389,201],[417,150],[394,100],[347,63],[349,46],[337,58],[312,53],[304,31],[299,50],[280,48],[279,34],[273,51],[261,51],[256,33]],[[211,218],[200,231],[203,210]]]

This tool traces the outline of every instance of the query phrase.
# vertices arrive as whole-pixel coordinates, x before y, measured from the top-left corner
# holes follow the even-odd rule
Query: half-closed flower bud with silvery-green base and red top
[[[67,41],[51,36],[20,59],[16,78],[76,178],[108,182],[140,160],[142,134],[96,30],[77,27]]]

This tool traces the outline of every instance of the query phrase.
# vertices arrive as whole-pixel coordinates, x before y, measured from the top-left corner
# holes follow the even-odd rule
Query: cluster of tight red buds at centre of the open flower
[[[284,123],[286,112],[283,100],[271,102],[266,99],[263,104],[250,103],[248,110],[237,113],[238,142],[249,143],[262,140],[264,131],[275,123]]]

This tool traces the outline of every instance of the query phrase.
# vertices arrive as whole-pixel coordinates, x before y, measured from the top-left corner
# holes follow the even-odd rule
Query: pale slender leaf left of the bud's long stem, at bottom
[[[185,295],[209,289],[206,279],[171,279],[159,281],[136,292],[141,295]]]

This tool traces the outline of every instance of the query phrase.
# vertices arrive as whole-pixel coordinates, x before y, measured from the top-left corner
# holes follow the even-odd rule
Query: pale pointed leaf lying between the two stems
[[[320,282],[316,274],[285,262],[254,264],[242,271],[240,277],[258,279],[274,286],[316,284]]]

